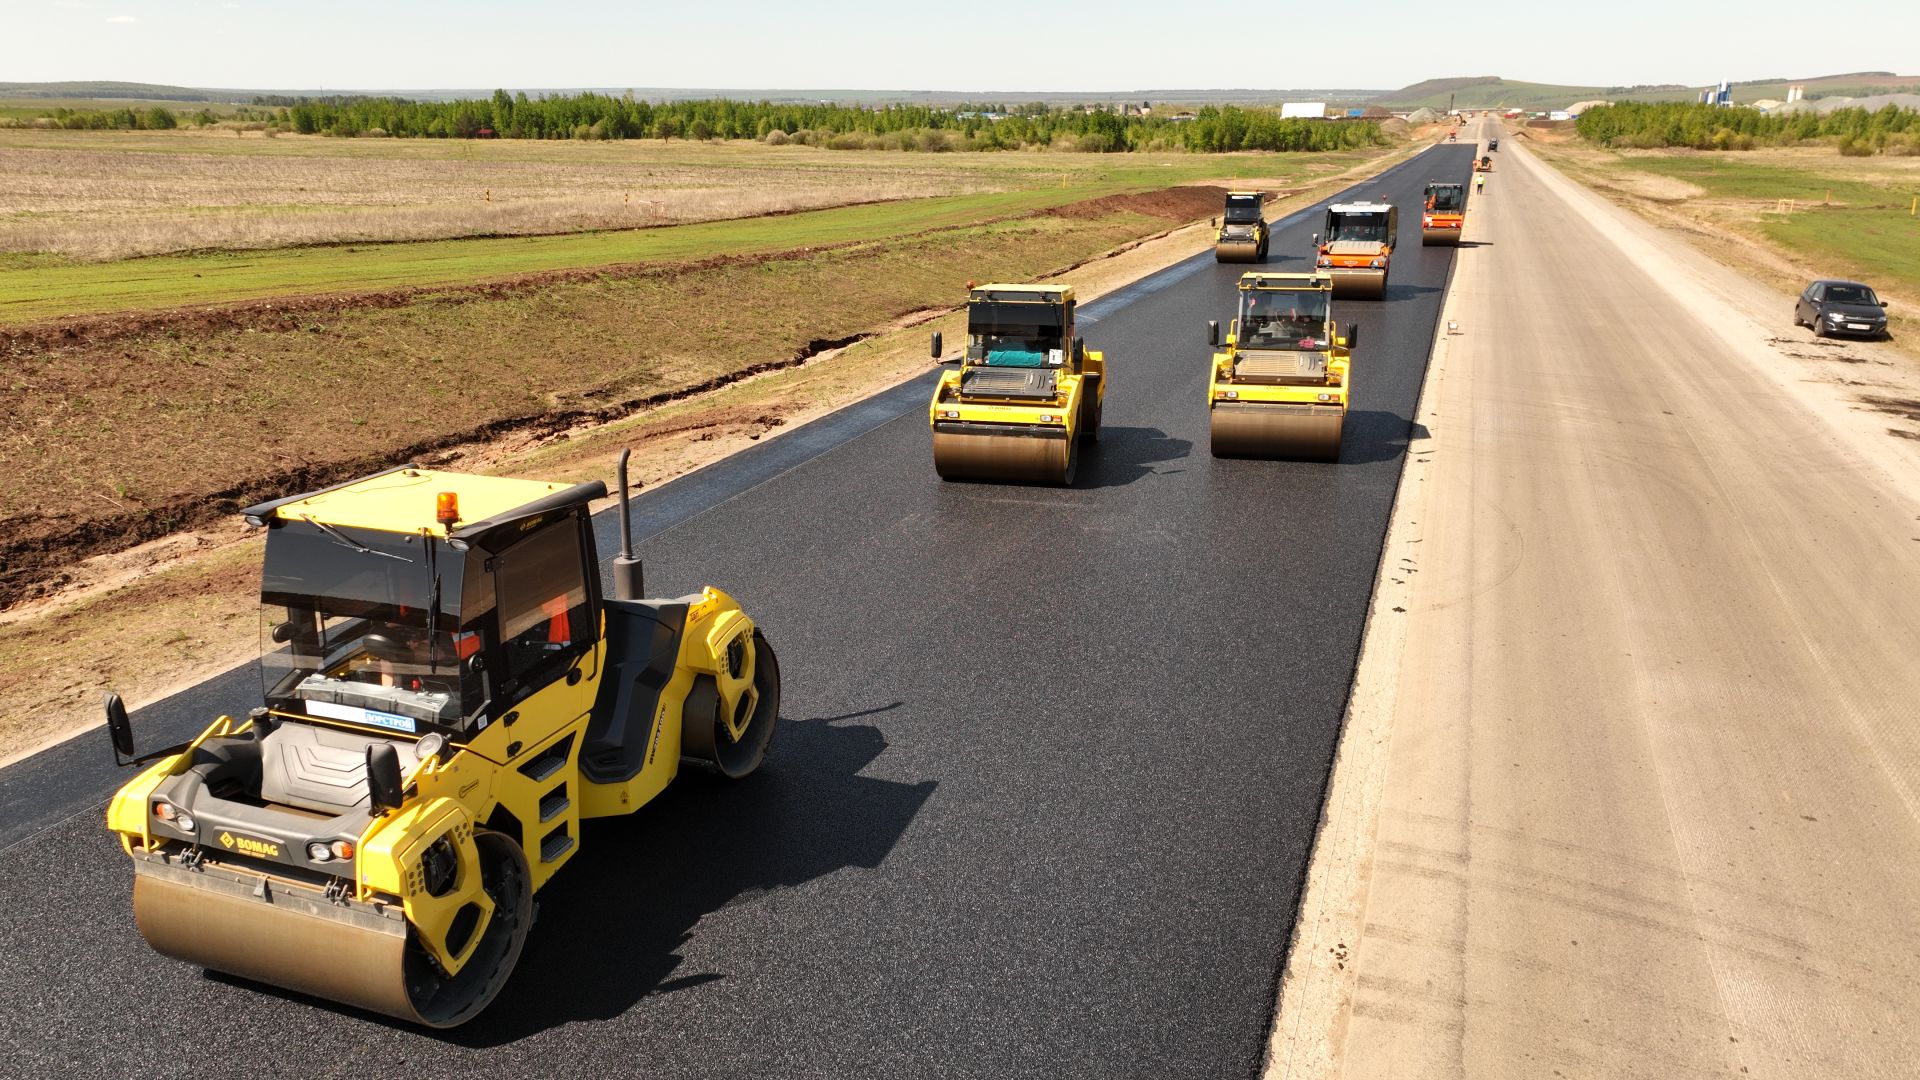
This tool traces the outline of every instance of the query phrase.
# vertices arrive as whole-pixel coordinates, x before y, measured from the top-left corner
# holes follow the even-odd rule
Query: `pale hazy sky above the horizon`
[[[1920,2],[0,0],[0,81],[1133,90],[1876,69],[1920,75]]]

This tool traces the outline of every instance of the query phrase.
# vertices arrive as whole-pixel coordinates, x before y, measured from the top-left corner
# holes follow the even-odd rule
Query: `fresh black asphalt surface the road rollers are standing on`
[[[588,824],[467,1028],[159,957],[106,738],[0,771],[0,1074],[1252,1076],[1452,267],[1421,186],[1471,154],[1350,192],[1404,240],[1386,302],[1336,304],[1338,465],[1208,454],[1206,321],[1248,269],[1208,252],[1083,311],[1112,386],[1073,488],[941,482],[929,375],[636,500],[651,590],[726,588],[780,651],[774,753]],[[134,724],[257,694],[242,667]]]

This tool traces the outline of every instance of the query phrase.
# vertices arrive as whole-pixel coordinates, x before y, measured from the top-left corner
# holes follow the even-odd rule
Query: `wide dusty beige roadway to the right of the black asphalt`
[[[1390,738],[1342,749],[1359,924],[1296,961],[1350,1011],[1269,1074],[1920,1076],[1914,444],[1519,142],[1386,552]]]

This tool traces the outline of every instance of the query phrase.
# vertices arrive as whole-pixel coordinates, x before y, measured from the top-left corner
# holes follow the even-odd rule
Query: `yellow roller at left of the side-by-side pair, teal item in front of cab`
[[[958,361],[929,405],[941,479],[1071,484],[1106,402],[1106,357],[1073,334],[1073,288],[968,286]]]

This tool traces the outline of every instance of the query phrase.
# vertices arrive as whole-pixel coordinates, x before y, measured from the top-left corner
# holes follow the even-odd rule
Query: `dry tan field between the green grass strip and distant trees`
[[[557,234],[1062,184],[1164,186],[1235,175],[1250,160],[0,129],[0,252],[113,259]]]

